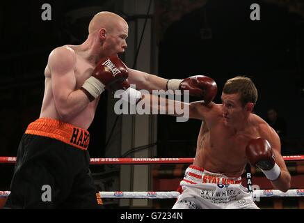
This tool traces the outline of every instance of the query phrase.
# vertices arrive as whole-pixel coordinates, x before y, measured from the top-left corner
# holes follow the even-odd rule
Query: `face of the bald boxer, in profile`
[[[106,38],[106,49],[109,54],[121,54],[127,48],[126,39],[128,37],[128,24],[125,21],[118,22],[108,33]]]

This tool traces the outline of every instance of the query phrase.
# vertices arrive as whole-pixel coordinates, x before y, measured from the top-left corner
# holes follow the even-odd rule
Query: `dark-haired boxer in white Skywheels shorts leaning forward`
[[[167,85],[179,82],[170,79]],[[205,95],[210,89],[205,88]],[[275,189],[289,190],[291,176],[280,154],[280,138],[253,114],[257,102],[253,81],[242,76],[227,80],[221,100],[221,104],[210,99],[183,103],[189,106],[189,118],[201,120],[202,126],[195,161],[180,183],[183,192],[173,208],[257,208],[240,181],[248,162],[261,169]]]

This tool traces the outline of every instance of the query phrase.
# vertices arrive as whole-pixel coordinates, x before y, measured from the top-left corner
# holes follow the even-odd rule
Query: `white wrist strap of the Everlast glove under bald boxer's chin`
[[[93,101],[104,91],[104,87],[104,84],[99,79],[91,76],[86,79],[86,82],[81,86],[81,90],[84,90],[83,92],[86,93],[88,99]]]

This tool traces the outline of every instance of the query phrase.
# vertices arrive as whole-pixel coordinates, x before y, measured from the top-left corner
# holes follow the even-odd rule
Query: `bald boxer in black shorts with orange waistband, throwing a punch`
[[[127,90],[135,100],[141,94],[129,84],[150,92],[183,89],[195,96],[204,94],[196,78],[169,82],[127,68],[117,54],[125,52],[128,32],[127,22],[119,15],[97,13],[85,42],[57,47],[49,54],[40,117],[29,125],[20,143],[6,208],[99,207],[102,200],[88,169],[86,130],[104,89]],[[47,193],[44,185],[51,188],[51,201],[41,201]]]

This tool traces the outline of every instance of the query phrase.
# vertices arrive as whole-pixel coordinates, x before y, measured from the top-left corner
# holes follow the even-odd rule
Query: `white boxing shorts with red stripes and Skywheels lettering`
[[[190,165],[179,185],[182,194],[173,209],[258,209],[241,185],[241,177],[229,178]]]

